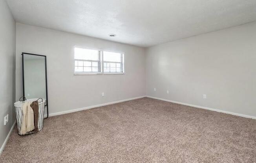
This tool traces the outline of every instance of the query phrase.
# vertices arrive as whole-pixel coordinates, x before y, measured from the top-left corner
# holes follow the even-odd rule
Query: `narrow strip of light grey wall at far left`
[[[15,121],[15,27],[9,7],[0,0],[0,148]],[[9,122],[4,125],[7,114]]]

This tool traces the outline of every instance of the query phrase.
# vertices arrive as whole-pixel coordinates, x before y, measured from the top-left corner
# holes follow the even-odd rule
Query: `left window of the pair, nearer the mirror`
[[[101,51],[75,47],[75,74],[101,73]]]

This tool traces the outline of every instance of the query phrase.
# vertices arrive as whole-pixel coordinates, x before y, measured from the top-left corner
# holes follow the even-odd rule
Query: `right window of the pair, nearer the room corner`
[[[103,51],[104,73],[124,73],[124,54]]]

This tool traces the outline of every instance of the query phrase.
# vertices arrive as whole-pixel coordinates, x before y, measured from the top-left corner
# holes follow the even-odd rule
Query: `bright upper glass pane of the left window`
[[[83,49],[75,47],[75,59],[78,60],[99,60],[98,50]]]

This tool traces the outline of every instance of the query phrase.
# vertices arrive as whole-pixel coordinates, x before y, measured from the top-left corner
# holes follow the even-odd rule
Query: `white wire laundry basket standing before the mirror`
[[[40,98],[31,98],[27,99],[26,101],[37,101],[38,100],[38,131],[42,130],[43,128],[43,123],[44,123],[44,104],[45,104],[45,99]],[[14,103],[15,106],[15,113],[16,113],[16,121],[17,121],[17,128],[18,128],[18,134],[19,135],[26,135],[26,134],[32,134],[35,133],[35,131],[30,131],[26,132],[26,134],[21,134],[20,133],[20,128],[21,128],[21,123],[22,123],[22,118],[23,118],[23,112],[22,112],[22,105],[24,104],[25,101],[17,101]]]

